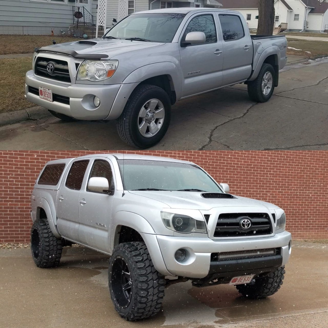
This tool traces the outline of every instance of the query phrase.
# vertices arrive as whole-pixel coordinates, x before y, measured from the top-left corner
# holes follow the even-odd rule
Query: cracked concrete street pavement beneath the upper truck
[[[252,102],[245,85],[174,105],[159,150],[327,150],[328,59],[290,56],[267,103]],[[127,150],[115,122],[65,123],[54,117],[0,127],[3,150]]]

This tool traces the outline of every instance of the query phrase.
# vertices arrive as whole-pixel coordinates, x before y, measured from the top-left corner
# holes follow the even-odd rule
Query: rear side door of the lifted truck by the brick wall
[[[57,229],[68,239],[79,242],[79,197],[89,159],[72,162],[57,195]]]

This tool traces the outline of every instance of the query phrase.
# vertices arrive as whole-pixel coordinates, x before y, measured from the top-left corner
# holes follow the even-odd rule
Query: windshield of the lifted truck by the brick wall
[[[124,181],[124,190],[222,193],[215,181],[193,164],[138,159],[125,159],[124,162],[119,159],[117,162]]]

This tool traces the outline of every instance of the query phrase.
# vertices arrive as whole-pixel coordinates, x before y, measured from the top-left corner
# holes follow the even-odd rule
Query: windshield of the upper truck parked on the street
[[[104,37],[141,38],[151,42],[172,42],[184,16],[185,14],[177,13],[133,14],[114,25]]]

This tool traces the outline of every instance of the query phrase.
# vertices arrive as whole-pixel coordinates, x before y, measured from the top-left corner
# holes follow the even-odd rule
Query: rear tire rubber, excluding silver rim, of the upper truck
[[[272,78],[273,78],[273,81],[272,81],[273,83],[272,83],[272,88],[271,88],[270,93],[265,95],[262,92],[262,80],[263,80],[264,75],[267,72],[271,73]],[[251,100],[256,101],[256,102],[267,102],[271,98],[271,96],[275,90],[275,76],[276,76],[276,73],[275,73],[275,70],[272,67],[272,65],[263,64],[256,79],[254,81],[248,82],[248,84],[247,84],[248,95],[251,98]]]

